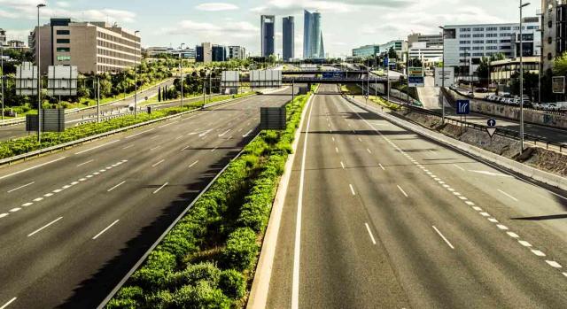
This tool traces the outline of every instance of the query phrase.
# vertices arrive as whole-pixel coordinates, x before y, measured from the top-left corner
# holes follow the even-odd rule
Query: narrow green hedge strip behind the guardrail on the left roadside
[[[221,102],[231,98],[240,98],[250,96],[250,93],[234,95],[234,96],[221,96],[214,97],[210,103]],[[105,120],[99,123],[87,123],[76,127],[67,128],[65,132],[61,133],[43,133],[42,142],[37,141],[36,135],[28,135],[19,139],[0,142],[0,159],[11,158],[31,151],[39,151],[45,148],[57,146],[63,143],[74,142],[85,137],[94,136],[110,132],[122,127],[130,127],[136,124],[144,123],[150,120],[158,120],[167,116],[175,115],[181,112],[189,112],[198,109],[203,104],[195,102],[191,104],[184,104],[183,107],[170,107],[159,111],[151,112],[138,112],[137,117],[133,115],[125,115],[111,120]]]

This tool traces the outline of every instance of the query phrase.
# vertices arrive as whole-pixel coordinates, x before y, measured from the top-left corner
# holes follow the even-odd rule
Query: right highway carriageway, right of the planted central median
[[[566,192],[361,106],[307,110],[268,308],[567,306]]]

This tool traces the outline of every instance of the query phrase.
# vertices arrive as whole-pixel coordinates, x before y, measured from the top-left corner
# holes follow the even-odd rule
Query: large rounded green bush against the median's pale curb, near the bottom
[[[227,268],[244,271],[252,265],[260,246],[256,243],[256,233],[251,228],[237,228],[230,234],[223,259]]]

